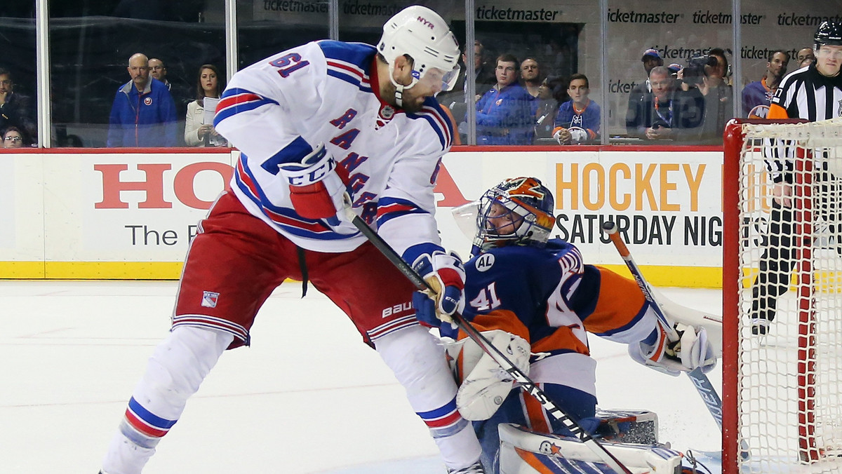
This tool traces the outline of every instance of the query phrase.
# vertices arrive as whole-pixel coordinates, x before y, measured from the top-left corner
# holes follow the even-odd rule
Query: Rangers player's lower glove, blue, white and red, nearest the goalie
[[[453,322],[451,315],[465,308],[465,268],[456,253],[424,253],[413,262],[413,269],[424,278],[429,290],[413,294],[415,317],[438,328],[442,321]]]

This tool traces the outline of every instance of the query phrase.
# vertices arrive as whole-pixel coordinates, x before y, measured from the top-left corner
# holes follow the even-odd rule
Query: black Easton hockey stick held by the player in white
[[[346,203],[345,206],[346,215],[354,226],[369,239],[369,242],[371,242],[377,250],[388,258],[388,260],[392,262],[392,264],[395,265],[395,267],[400,270],[400,272],[406,276],[416,288],[418,288],[418,290],[430,290],[429,285],[423,278],[421,278],[421,275],[419,275],[418,272],[407,264],[407,262],[404,261],[397,252],[395,252],[395,249],[393,249],[392,246],[386,243],[382,237],[377,235],[377,232],[366,224],[360,216],[354,214],[350,205],[347,204],[348,203]],[[542,391],[541,388],[539,388],[537,384],[529,378],[529,376],[527,376],[522,370],[518,369],[517,366],[515,366],[512,361],[500,351],[500,349],[494,347],[493,344],[488,341],[488,338],[477,331],[470,322],[466,321],[465,317],[462,317],[459,312],[455,312],[453,314],[453,321],[456,322],[456,325],[462,331],[465,331],[468,337],[472,338],[477,345],[479,345],[483,352],[490,355],[491,358],[500,365],[500,367],[509,372],[509,375],[512,375],[512,378],[520,383],[520,386],[523,387],[527,393],[529,393],[532,397],[535,397],[536,400],[541,403],[541,406],[544,407],[546,412],[550,413],[552,418],[560,421],[579,441],[584,443],[584,445],[587,445],[595,455],[599,456],[602,462],[605,462],[606,465],[618,474],[632,474],[632,471],[629,471],[626,466],[623,466],[614,455],[605,449],[605,446],[601,445],[584,428],[582,428],[582,425],[558,407],[555,402],[552,402],[550,397],[547,397],[546,393],[544,393],[544,391]]]

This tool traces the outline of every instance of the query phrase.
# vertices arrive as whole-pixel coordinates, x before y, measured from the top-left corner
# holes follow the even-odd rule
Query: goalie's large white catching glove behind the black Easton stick
[[[515,367],[529,375],[530,344],[520,336],[501,329],[483,331],[491,344],[500,349]],[[462,418],[477,421],[491,418],[514,386],[509,372],[500,367],[472,338],[445,343],[450,367],[460,383],[456,407]]]

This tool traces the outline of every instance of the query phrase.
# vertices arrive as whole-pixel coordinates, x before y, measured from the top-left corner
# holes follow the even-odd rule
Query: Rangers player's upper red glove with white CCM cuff
[[[280,174],[290,184],[290,200],[299,216],[325,219],[339,224],[337,213],[343,209],[345,184],[336,173],[336,161],[319,143],[301,162],[280,165]]]

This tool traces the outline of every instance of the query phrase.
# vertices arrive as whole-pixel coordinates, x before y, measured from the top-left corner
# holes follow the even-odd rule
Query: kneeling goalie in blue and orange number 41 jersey
[[[680,338],[670,342],[635,281],[584,264],[572,244],[549,238],[552,210],[552,193],[536,178],[506,179],[482,195],[473,255],[465,264],[464,316],[586,429],[606,441],[634,443],[604,443],[626,466],[674,474],[682,455],[658,444],[654,413],[597,409],[587,333],[628,344],[632,359],[679,375],[716,365],[706,329],[676,323]],[[418,318],[438,325],[424,300],[417,302]],[[445,341],[455,339],[446,345],[461,384],[456,405],[473,420],[488,472],[582,472],[566,463],[593,469],[597,460],[582,443],[513,386],[471,338],[450,324],[440,330]],[[611,428],[618,423],[621,430]]]

